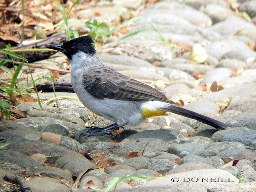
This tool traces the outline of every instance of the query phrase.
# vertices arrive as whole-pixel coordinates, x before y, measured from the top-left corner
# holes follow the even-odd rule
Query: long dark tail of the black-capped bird
[[[209,118],[207,116],[198,114],[196,112],[192,112],[190,110],[187,110],[187,109],[182,108],[182,107],[180,107],[178,105],[175,105],[175,104],[170,104],[170,106],[168,106],[167,108],[163,108],[162,110],[172,112],[172,113],[175,113],[175,114],[178,114],[178,115],[181,115],[181,116],[185,116],[185,117],[188,117],[188,118],[192,118],[194,120],[198,120],[202,123],[206,123],[208,125],[211,125],[212,127],[215,127],[217,129],[227,129],[228,128],[228,125],[226,125],[226,124],[224,124],[220,121],[214,120],[212,118]]]

